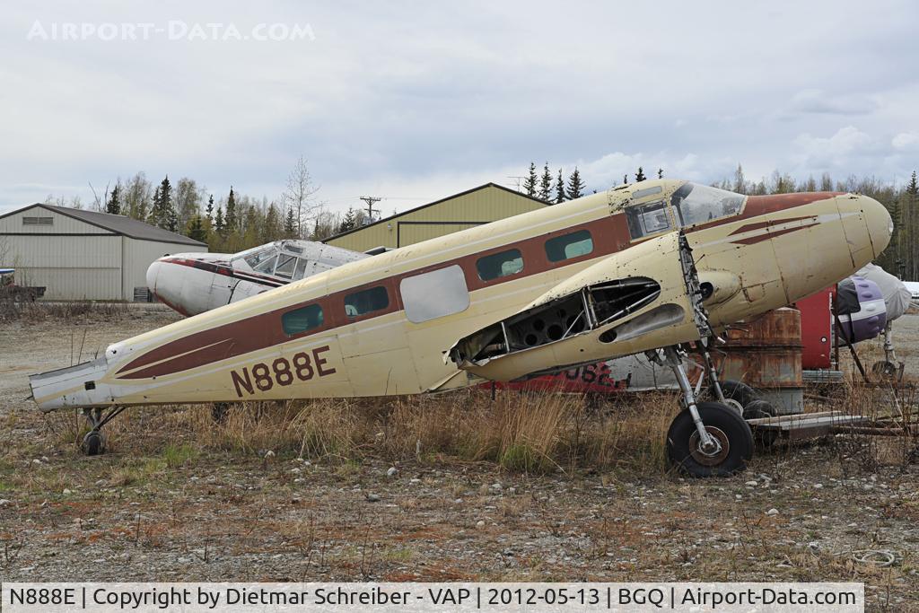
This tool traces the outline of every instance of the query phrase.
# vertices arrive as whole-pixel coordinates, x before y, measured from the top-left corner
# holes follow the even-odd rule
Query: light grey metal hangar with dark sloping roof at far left
[[[146,273],[163,255],[208,245],[143,221],[93,210],[33,204],[0,216],[0,267],[45,300],[125,300],[146,292]]]

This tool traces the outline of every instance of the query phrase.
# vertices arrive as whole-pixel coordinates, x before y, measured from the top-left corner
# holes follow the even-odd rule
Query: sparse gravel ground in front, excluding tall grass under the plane
[[[117,319],[0,324],[0,580],[863,581],[872,609],[919,608],[919,466],[902,439],[763,452],[731,479],[528,476],[450,458],[176,457],[164,448],[190,434],[151,409],[136,444],[85,458],[26,375],[176,316]],[[916,374],[919,316],[898,340]],[[884,461],[859,461],[866,448]],[[859,562],[866,550],[892,563]]]

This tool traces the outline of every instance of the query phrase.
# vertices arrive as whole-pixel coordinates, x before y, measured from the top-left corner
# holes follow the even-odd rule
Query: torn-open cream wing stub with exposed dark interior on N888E
[[[523,309],[460,338],[447,358],[515,380],[708,333],[691,250],[678,232],[609,255]]]

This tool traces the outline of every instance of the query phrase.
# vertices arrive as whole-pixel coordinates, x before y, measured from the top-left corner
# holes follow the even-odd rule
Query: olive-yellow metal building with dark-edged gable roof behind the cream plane
[[[483,223],[503,220],[549,206],[513,189],[486,183],[398,215],[335,234],[324,243],[353,251],[404,247]]]

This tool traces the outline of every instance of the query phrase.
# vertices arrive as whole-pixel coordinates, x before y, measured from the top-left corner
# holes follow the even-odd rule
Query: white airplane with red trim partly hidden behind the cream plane
[[[329,244],[285,240],[238,254],[165,255],[147,268],[159,301],[191,316],[369,257]]]

